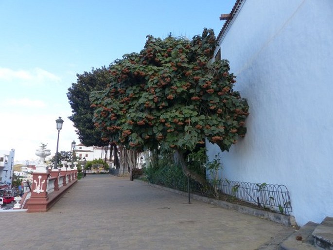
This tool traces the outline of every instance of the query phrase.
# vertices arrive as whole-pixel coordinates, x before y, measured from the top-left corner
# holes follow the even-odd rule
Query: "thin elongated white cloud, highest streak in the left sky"
[[[33,70],[12,70],[0,68],[0,80],[18,82],[21,85],[35,86],[48,82],[60,82],[60,77],[40,68]]]

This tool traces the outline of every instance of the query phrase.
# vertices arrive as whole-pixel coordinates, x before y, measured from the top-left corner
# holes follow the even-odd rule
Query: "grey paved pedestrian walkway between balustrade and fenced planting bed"
[[[0,249],[277,249],[292,228],[146,183],[88,175],[46,213],[0,213]]]

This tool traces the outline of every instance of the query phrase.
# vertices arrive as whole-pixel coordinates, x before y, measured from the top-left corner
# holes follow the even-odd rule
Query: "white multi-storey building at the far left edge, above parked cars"
[[[15,149],[0,150],[0,189],[10,188],[13,179]]]

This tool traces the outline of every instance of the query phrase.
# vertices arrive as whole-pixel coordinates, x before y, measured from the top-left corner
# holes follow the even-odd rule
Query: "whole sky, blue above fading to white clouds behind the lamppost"
[[[66,96],[76,73],[140,52],[146,36],[217,36],[235,0],[0,0],[0,149],[33,160],[40,143],[55,153],[79,143]]]

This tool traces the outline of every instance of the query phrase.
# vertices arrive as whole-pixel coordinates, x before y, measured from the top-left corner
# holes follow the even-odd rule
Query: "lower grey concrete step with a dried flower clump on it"
[[[280,250],[318,250],[312,232],[318,226],[309,221],[280,244]]]

